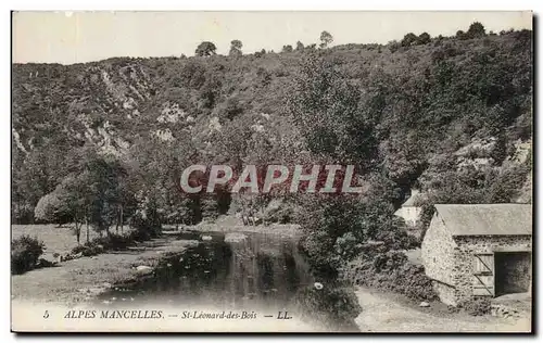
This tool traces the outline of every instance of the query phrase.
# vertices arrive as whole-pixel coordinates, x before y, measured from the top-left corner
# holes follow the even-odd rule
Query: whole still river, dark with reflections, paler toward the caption
[[[288,313],[298,320],[319,321],[327,330],[345,330],[345,326],[330,323],[330,314],[315,313],[328,310],[326,303],[337,302],[337,295],[329,296],[325,288],[329,283],[312,274],[296,237],[188,231],[173,239],[198,244],[181,254],[164,256],[151,276],[104,293],[100,301],[114,307],[128,302],[130,306],[168,304],[188,312],[244,310],[274,318]],[[308,308],[313,305],[307,304],[314,303],[318,308]],[[346,329],[352,331],[353,327]]]

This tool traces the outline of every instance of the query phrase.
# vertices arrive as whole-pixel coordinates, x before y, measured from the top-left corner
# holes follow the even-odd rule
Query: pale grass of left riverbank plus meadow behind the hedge
[[[30,234],[47,245],[45,258],[54,252],[66,252],[77,245],[70,228],[55,225],[13,225],[12,239]],[[97,233],[91,236],[91,239]],[[84,242],[86,239],[81,240]],[[75,304],[89,300],[86,289],[100,288],[134,280],[138,274],[134,267],[154,267],[166,252],[179,253],[186,244],[173,243],[173,239],[154,239],[122,252],[104,253],[62,262],[54,267],[40,268],[11,277],[13,301],[60,302]],[[189,244],[187,242],[187,244]]]

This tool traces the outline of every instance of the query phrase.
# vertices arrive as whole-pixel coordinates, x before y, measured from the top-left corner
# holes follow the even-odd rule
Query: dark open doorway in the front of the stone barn
[[[530,289],[529,252],[495,253],[496,296],[523,293]]]

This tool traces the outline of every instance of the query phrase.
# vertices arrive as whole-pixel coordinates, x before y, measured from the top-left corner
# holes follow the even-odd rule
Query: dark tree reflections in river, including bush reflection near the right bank
[[[293,239],[266,234],[232,243],[214,239],[189,247],[181,256],[163,258],[155,275],[134,285],[130,294],[162,293],[184,305],[298,307],[311,320],[352,330],[359,310],[352,289],[320,277],[325,288],[317,291],[308,270]],[[126,295],[113,292],[104,298]]]

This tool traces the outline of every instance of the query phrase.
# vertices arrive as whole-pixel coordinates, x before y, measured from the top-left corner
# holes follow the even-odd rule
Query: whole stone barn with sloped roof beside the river
[[[531,292],[530,204],[435,205],[425,234],[426,274],[445,304]]]

